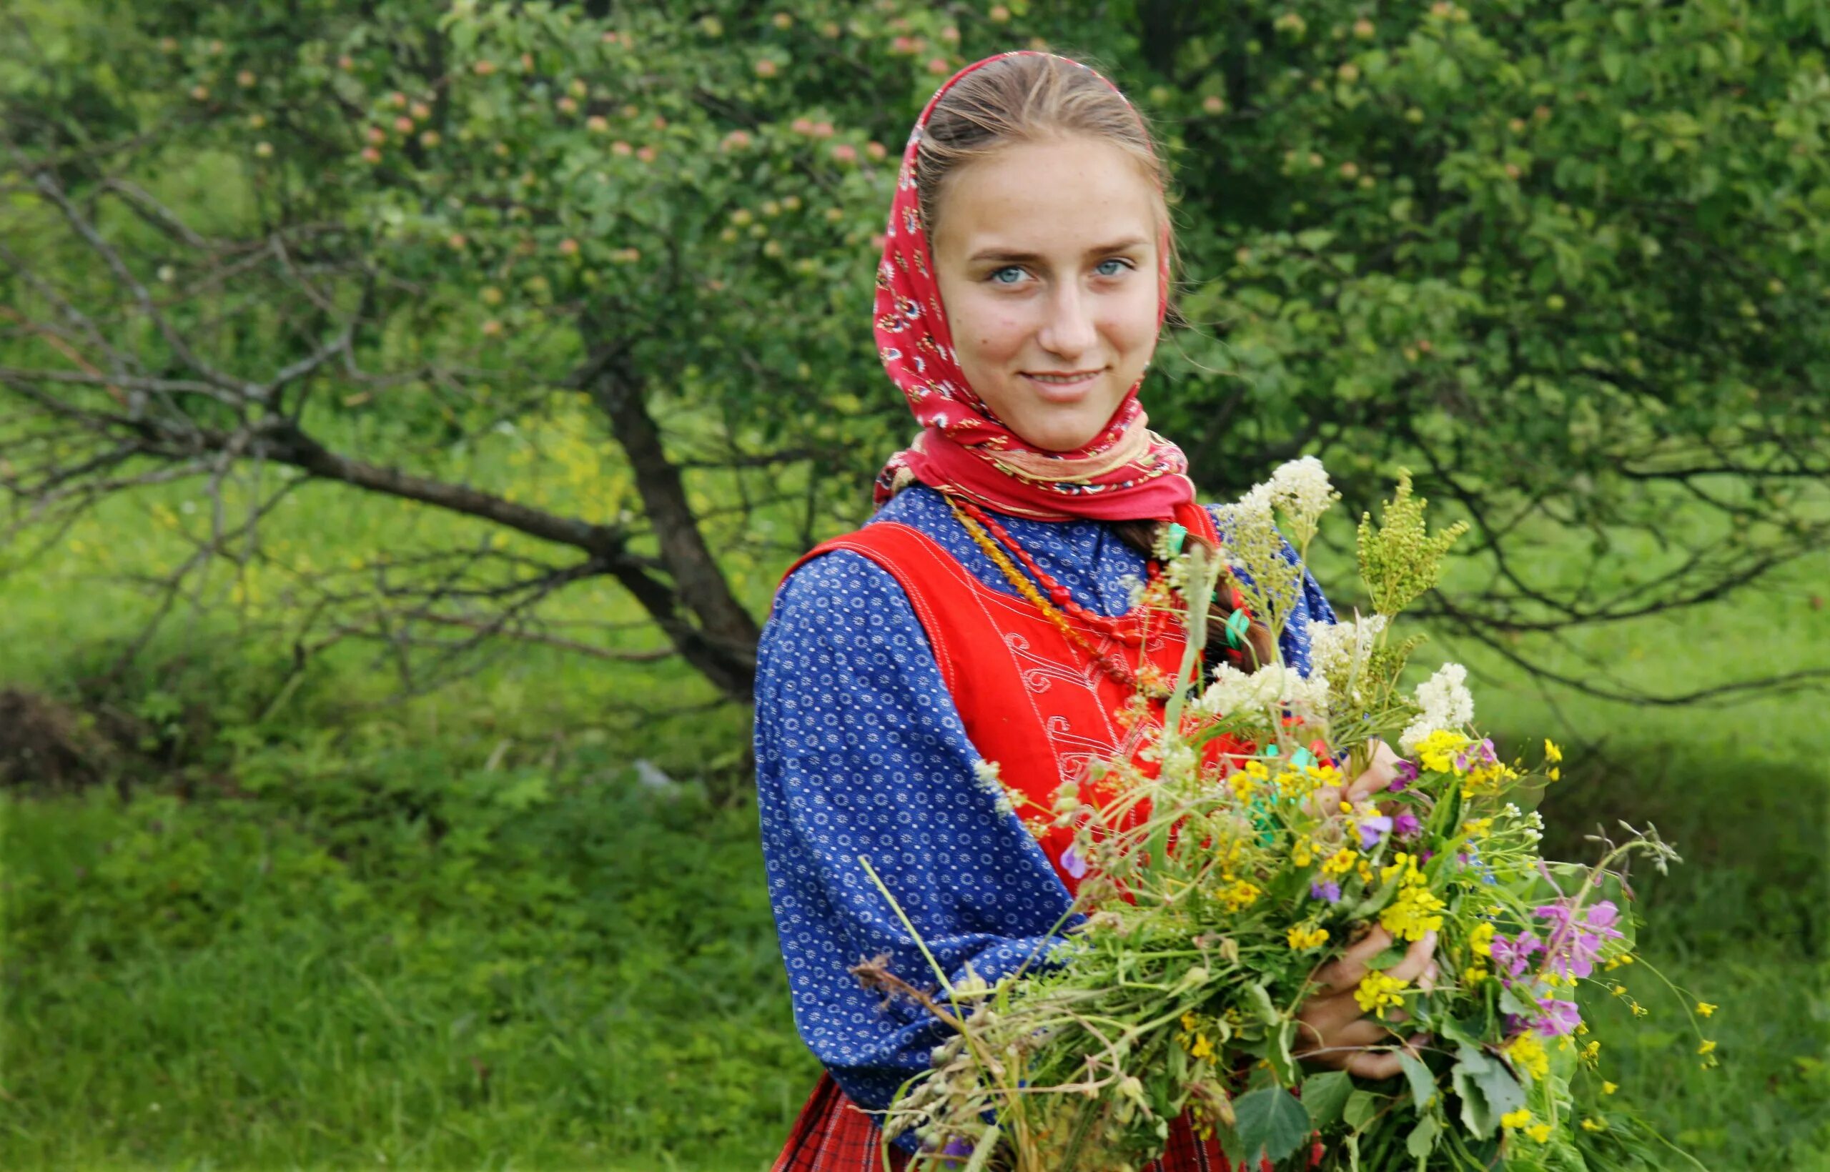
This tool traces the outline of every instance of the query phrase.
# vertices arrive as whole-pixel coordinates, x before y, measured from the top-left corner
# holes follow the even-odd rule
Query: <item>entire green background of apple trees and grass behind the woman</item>
[[[1815,0],[11,0],[0,1167],[769,1165],[756,633],[911,430],[908,128],[1027,46],[1173,163],[1204,495],[1319,455],[1345,613],[1411,468],[1415,669],[1685,856],[1607,1077],[1830,1167]]]

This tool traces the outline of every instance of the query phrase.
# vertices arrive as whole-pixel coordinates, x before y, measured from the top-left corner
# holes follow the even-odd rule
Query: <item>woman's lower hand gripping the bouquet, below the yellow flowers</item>
[[[1352,943],[1340,960],[1332,960],[1316,971],[1319,993],[1303,1002],[1296,1013],[1297,1042],[1296,1057],[1334,1066],[1363,1079],[1389,1079],[1404,1070],[1393,1051],[1374,1051],[1369,1046],[1389,1044],[1391,1028],[1376,1018],[1365,1017],[1354,989],[1367,975],[1367,962],[1389,949],[1391,932],[1374,927],[1367,936]],[[1437,947],[1437,934],[1424,932],[1422,940],[1411,943],[1404,960],[1385,969],[1393,980],[1416,982],[1420,989],[1431,989],[1437,982],[1437,962],[1429,954]],[[1404,1009],[1393,1009],[1387,1022],[1404,1022]],[[1404,1049],[1416,1053],[1416,1044],[1427,1035],[1415,1033],[1405,1040]]]

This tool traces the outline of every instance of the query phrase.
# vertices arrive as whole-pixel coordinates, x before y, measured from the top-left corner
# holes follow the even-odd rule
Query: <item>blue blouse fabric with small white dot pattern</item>
[[[1111,527],[999,519],[1076,602],[1102,614],[1129,607],[1125,580],[1146,567]],[[931,488],[900,492],[871,521],[919,528],[992,589],[1016,592]],[[1310,618],[1332,623],[1334,611],[1305,576],[1281,647],[1305,675]],[[1067,889],[1017,815],[977,783],[975,761],[895,578],[849,550],[789,576],[758,651],[763,861],[794,1024],[866,1110],[888,1106],[946,1031],[917,1006],[884,1006],[849,975],[860,958],[888,954],[904,980],[937,984],[860,856],[950,980],[968,962],[996,980],[1060,940],[1049,932],[1067,912]],[[900,1143],[911,1150],[913,1137]]]

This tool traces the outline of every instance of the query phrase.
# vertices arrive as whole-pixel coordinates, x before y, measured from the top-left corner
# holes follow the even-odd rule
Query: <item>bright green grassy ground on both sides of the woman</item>
[[[295,534],[331,521],[302,508]],[[397,517],[335,523],[361,554]],[[130,516],[97,525],[0,583],[0,686],[57,691],[132,629],[121,592],[82,583],[97,549],[119,569],[163,556],[161,538]],[[1823,581],[1819,558],[1742,611],[1596,631],[1565,666],[1592,671],[1590,655],[1673,686],[1704,662],[1821,664]],[[1616,815],[1685,854],[1640,883],[1645,953],[1720,1006],[1722,1066],[1698,1068],[1680,1004],[1632,971],[1651,1022],[1598,1022],[1621,1097],[1706,1167],[1826,1167],[1821,697],[1636,708],[1541,691],[1453,640],[1437,651],[1482,677],[1486,724],[1566,742],[1570,777],[1546,801],[1565,854]],[[148,786],[124,804],[0,804],[0,1167],[767,1167],[816,1068],[754,810],[699,784],[728,775],[741,713],[637,724],[630,693],[684,689],[673,669],[522,649],[368,711],[350,702],[386,680],[333,658],[260,719],[247,697],[269,697],[276,667],[232,629],[174,631],[152,662],[168,667],[134,682],[146,711],[240,713],[199,733],[188,801]],[[644,784],[635,759],[684,784]]]

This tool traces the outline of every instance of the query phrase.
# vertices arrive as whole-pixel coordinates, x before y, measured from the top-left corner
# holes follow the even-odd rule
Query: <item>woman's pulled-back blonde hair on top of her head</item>
[[[1169,172],[1144,115],[1087,66],[1054,53],[1012,53],[979,66],[928,115],[915,152],[920,221],[933,240],[946,183],[968,163],[1017,143],[1089,137],[1120,148],[1157,192],[1158,225],[1175,263],[1175,230],[1164,192]]]

